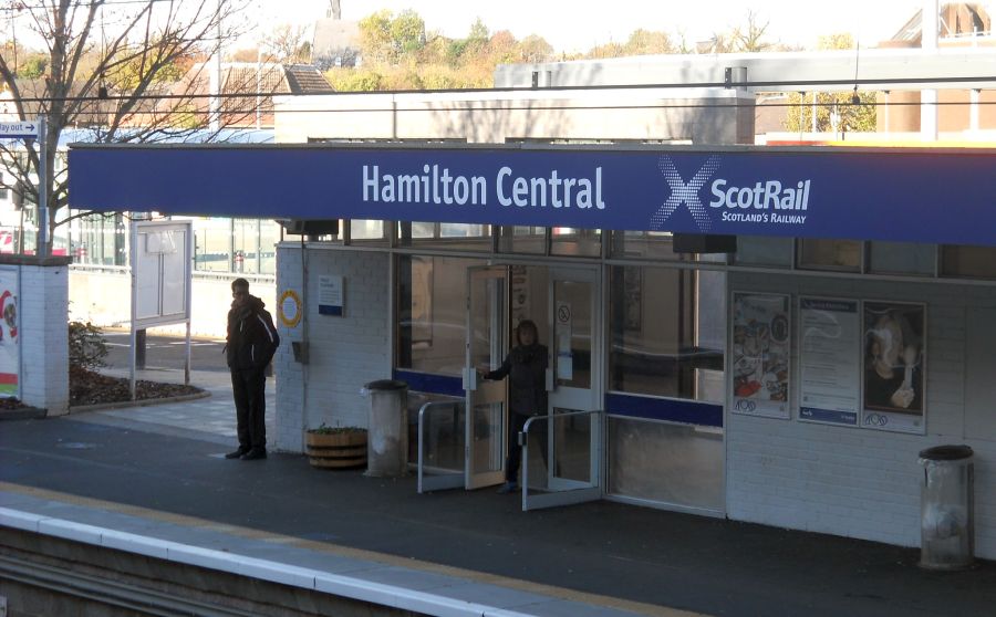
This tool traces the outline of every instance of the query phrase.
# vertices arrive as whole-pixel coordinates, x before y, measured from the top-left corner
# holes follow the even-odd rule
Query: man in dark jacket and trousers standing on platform
[[[225,458],[251,461],[267,458],[266,370],[280,345],[280,336],[263,301],[249,293],[249,281],[232,281],[231,297],[225,349],[231,370],[239,448]]]

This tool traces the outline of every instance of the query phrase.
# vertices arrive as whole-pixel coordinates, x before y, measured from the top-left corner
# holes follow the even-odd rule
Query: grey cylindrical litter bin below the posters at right
[[[968,446],[937,446],[920,452],[920,566],[958,569],[975,552],[975,470]]]

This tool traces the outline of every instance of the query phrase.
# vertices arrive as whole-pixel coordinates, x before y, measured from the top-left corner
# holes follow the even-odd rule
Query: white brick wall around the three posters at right
[[[981,408],[978,397],[966,402],[972,387],[966,386],[968,342],[973,336],[996,339],[996,323],[975,320],[969,331],[966,315],[969,310],[996,310],[996,289],[745,273],[730,273],[729,284],[735,291],[791,293],[793,311],[799,294],[927,306],[926,435],[798,421],[793,339],[792,419],[727,412],[729,517],[920,546],[917,453],[932,446],[967,443],[975,451],[976,554],[996,558],[996,408]],[[793,320],[798,323],[798,315]],[[993,386],[976,384],[976,390],[992,393]],[[971,430],[966,417],[973,420]]]

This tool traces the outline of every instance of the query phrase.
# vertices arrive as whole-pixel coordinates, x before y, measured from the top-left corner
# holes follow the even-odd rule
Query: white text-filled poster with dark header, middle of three
[[[857,300],[799,299],[799,419],[858,426],[861,322]]]

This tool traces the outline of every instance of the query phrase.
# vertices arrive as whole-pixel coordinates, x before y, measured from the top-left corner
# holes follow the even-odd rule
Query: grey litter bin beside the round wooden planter
[[[378,379],[363,387],[370,395],[366,474],[404,475],[408,469],[408,385]]]

